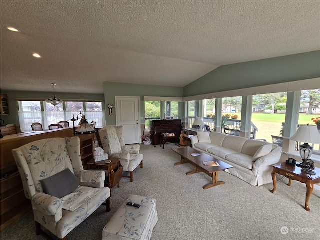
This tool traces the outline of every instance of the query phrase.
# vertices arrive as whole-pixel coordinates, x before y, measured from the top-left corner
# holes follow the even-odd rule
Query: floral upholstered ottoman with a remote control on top
[[[126,205],[133,202],[139,208]],[[153,227],[158,221],[155,199],[145,196],[128,195],[102,231],[102,240],[109,239],[150,239]]]

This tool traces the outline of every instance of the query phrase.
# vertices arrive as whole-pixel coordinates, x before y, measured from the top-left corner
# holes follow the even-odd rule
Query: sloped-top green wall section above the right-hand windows
[[[320,51],[224,65],[184,87],[183,97],[320,77]]]

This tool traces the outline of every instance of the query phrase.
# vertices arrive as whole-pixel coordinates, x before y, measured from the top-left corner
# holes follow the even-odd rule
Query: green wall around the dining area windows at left
[[[8,95],[9,112],[8,116],[1,116],[5,124],[13,123],[19,125],[18,102],[15,98],[25,99],[46,99],[52,97],[52,92],[36,92],[36,91],[2,91],[1,94]],[[56,96],[60,99],[82,99],[82,100],[102,100],[102,110],[104,110],[104,94],[83,94],[83,93],[59,93]]]

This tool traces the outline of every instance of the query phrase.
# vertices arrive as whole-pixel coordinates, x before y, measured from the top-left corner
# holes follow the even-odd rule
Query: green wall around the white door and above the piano
[[[182,97],[182,87],[170,86],[154,86],[142,84],[128,84],[116,82],[104,82],[105,109],[108,104],[113,104],[112,115],[105,111],[106,125],[115,125],[115,96],[139,96],[140,97],[140,113],[144,117],[144,96],[170,96]]]

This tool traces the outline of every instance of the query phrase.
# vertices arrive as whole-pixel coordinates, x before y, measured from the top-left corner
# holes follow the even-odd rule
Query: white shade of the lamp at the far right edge
[[[320,143],[320,133],[316,125],[299,125],[290,140],[307,143]]]

